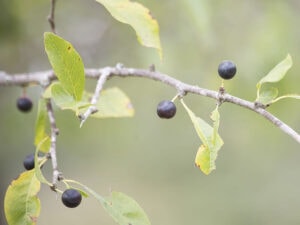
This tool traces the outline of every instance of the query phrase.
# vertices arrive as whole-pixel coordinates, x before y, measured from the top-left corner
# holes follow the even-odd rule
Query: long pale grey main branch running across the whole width
[[[259,115],[261,115],[262,117],[264,117],[265,119],[273,123],[275,126],[277,126],[279,129],[281,129],[284,133],[286,133],[287,135],[295,139],[298,143],[300,143],[300,134],[298,134],[295,130],[293,130],[290,126],[282,122],[280,119],[275,117],[273,114],[268,112],[266,109],[259,106],[259,104],[255,104],[254,102],[250,102],[232,96],[225,92],[223,93],[223,91],[218,92],[218,91],[201,88],[195,85],[190,85],[180,80],[177,80],[171,76],[168,76],[167,74],[163,74],[153,70],[146,70],[146,69],[125,68],[125,67],[116,66],[116,67],[105,67],[100,69],[86,69],[85,74],[87,78],[91,78],[91,79],[99,79],[99,77],[104,75],[105,77],[105,79],[103,79],[104,82],[106,81],[106,79],[113,76],[148,78],[148,79],[162,82],[166,85],[175,88],[177,92],[182,96],[187,93],[192,93],[196,95],[213,98],[218,102],[229,102],[258,113]],[[9,75],[5,72],[0,72],[0,86],[5,86],[5,85],[25,86],[29,84],[42,85],[45,83],[50,83],[55,79],[57,78],[55,77],[55,74],[51,70],[43,71],[43,72],[35,72],[35,73],[16,74],[16,75]],[[101,89],[102,89],[102,84],[101,84],[100,91]],[[95,99],[97,98],[98,97],[95,97]]]

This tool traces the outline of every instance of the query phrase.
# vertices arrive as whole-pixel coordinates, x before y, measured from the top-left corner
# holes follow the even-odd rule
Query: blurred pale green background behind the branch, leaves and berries
[[[92,0],[58,1],[58,34],[81,54],[86,67],[122,62],[128,67],[157,70],[190,84],[217,90],[217,67],[231,59],[238,73],[226,90],[254,100],[255,85],[290,53],[294,66],[280,84],[280,93],[300,93],[300,2],[149,1],[160,24],[164,59],[140,46],[134,31],[115,21]],[[50,68],[43,49],[49,31],[50,0],[0,1],[0,70],[9,73]],[[93,88],[95,81],[88,81]],[[131,98],[136,115],[130,119],[90,119],[80,129],[72,112],[56,110],[59,168],[72,178],[108,195],[110,190],[132,196],[152,224],[252,225],[300,224],[299,144],[253,112],[222,105],[220,134],[225,145],[217,170],[206,176],[194,166],[200,140],[180,104],[175,118],[161,120],[156,105],[175,90],[145,79],[114,78]],[[92,90],[92,89],[91,89]],[[27,90],[35,107],[18,112],[19,87],[0,87],[0,224],[6,224],[3,197],[23,169],[23,158],[34,151],[34,123],[41,88]],[[186,103],[208,120],[215,101],[188,95]],[[300,130],[300,104],[284,100],[269,109]],[[50,174],[50,163],[44,168]],[[47,186],[39,195],[39,225],[115,224],[93,198],[76,209],[65,208]]]

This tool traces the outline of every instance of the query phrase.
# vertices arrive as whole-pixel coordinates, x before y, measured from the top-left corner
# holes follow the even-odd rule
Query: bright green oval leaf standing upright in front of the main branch
[[[68,41],[46,32],[45,50],[52,68],[62,87],[75,101],[80,101],[84,91],[84,65],[80,55]]]

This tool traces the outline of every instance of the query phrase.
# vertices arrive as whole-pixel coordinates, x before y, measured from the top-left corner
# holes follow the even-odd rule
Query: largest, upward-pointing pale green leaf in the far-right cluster
[[[259,92],[262,84],[264,83],[276,83],[284,78],[287,71],[292,67],[293,61],[288,54],[284,60],[278,63],[265,77],[263,77],[256,85],[257,87],[257,99],[259,99]]]

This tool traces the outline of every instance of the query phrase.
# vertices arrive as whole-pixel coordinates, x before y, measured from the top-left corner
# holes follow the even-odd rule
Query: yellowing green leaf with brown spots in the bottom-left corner
[[[22,173],[8,187],[4,211],[8,225],[34,225],[40,214],[40,182],[34,170]]]

